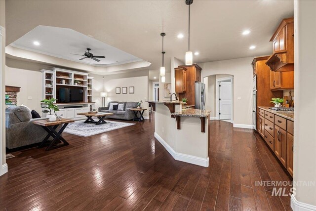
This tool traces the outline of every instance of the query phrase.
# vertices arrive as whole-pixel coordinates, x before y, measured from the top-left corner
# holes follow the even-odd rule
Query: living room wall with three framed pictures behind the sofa
[[[137,71],[126,74],[115,74],[104,76],[104,86],[107,92],[107,103],[109,101],[143,101],[142,107],[148,108],[148,71]],[[134,86],[134,94],[128,93],[128,87]],[[120,87],[120,94],[115,93],[115,88]],[[122,94],[122,87],[127,87],[127,94]],[[148,117],[145,111],[144,117]]]

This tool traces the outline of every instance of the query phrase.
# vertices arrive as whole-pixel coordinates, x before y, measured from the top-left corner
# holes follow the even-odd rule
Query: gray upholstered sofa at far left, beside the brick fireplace
[[[41,142],[47,132],[34,125],[31,111],[24,106],[9,105],[5,108],[5,146],[8,149],[27,146]]]

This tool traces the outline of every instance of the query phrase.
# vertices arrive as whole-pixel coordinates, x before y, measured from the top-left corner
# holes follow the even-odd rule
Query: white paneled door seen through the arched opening
[[[233,104],[233,93],[232,93],[232,82],[220,82],[220,120],[232,119],[232,104]]]

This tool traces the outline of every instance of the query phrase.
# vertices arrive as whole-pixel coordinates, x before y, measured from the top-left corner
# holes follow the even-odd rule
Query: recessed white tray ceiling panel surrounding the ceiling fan
[[[33,42],[39,42],[40,45],[35,45]],[[18,40],[12,42],[11,45],[58,58],[98,66],[142,61],[142,59],[104,42],[95,40],[72,29],[59,27],[38,26]],[[105,59],[98,58],[100,62],[89,58],[79,60],[84,57],[82,55],[87,51],[87,48],[91,49],[90,53],[93,55],[105,56]],[[71,53],[80,54],[81,56]]]

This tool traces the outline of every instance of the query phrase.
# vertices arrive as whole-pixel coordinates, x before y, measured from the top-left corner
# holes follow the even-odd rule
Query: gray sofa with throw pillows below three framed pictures
[[[118,103],[118,104],[123,103],[124,111],[109,110],[110,103]],[[113,113],[113,115],[109,115],[106,118],[119,119],[119,120],[132,120],[134,118],[134,112],[130,110],[131,108],[137,108],[137,102],[112,101],[108,103],[107,107],[99,107],[99,112]]]

